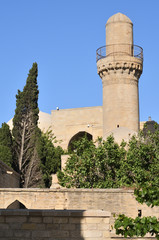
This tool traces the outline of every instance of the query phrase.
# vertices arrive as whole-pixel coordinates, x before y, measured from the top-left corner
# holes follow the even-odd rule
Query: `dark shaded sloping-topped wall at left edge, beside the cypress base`
[[[0,161],[0,188],[19,187],[20,176],[4,162]]]

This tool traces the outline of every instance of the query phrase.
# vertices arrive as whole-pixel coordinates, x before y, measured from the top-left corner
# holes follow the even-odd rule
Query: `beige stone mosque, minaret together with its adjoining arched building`
[[[39,113],[39,127],[51,129],[60,145],[68,149],[73,140],[128,140],[143,123],[139,122],[138,82],[143,69],[143,50],[133,43],[133,23],[122,13],[106,23],[106,46],[96,51],[97,72],[102,80],[103,106],[52,110]],[[11,126],[11,121],[9,125]]]

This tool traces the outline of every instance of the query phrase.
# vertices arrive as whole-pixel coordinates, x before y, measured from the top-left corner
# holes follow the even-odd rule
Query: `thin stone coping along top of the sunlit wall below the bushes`
[[[105,189],[88,189],[88,188],[0,188],[0,192],[39,192],[39,193],[49,193],[49,192],[99,192],[99,193],[134,193],[133,189],[125,189],[125,188],[105,188]]]

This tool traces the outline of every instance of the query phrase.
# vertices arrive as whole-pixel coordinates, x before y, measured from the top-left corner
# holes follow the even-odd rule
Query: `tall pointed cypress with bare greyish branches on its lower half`
[[[21,175],[21,187],[36,187],[41,182],[40,159],[37,154],[38,122],[38,68],[33,63],[23,91],[16,95],[13,118],[15,166]]]

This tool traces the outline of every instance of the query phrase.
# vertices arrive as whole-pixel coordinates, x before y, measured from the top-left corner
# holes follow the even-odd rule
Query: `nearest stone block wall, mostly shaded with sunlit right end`
[[[1,210],[0,239],[110,239],[109,220],[106,211]]]

